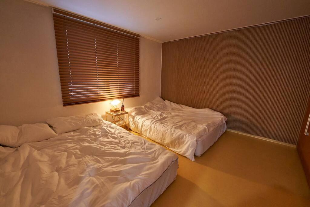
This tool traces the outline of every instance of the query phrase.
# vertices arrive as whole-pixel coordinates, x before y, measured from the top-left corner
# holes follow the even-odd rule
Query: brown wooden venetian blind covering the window
[[[138,35],[53,16],[64,106],[139,96]]]

